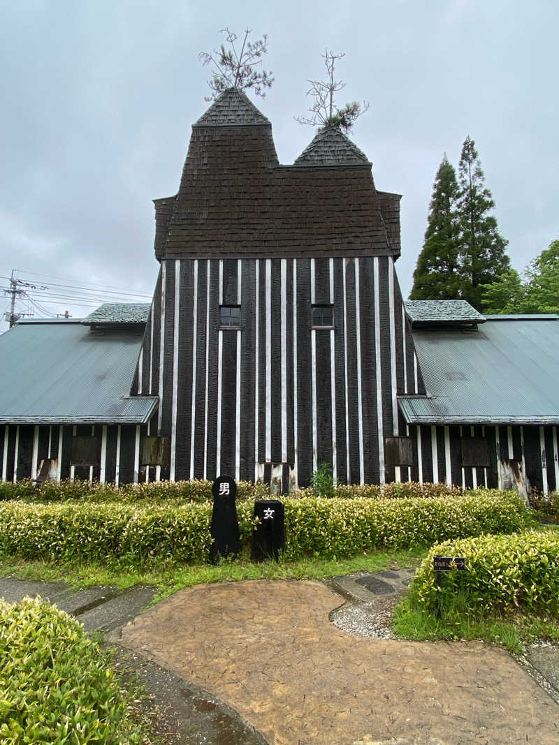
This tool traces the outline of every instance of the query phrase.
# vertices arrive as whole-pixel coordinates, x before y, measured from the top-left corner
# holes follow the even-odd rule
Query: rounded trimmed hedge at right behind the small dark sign
[[[433,557],[465,557],[467,571],[444,572],[435,584]],[[479,536],[435,545],[414,574],[412,606],[434,612],[455,595],[480,612],[526,609],[559,612],[559,531]]]

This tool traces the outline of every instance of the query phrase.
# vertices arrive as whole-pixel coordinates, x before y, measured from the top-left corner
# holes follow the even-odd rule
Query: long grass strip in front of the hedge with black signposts
[[[324,559],[307,557],[288,562],[268,561],[255,564],[245,553],[237,559],[218,565],[180,565],[171,561],[154,561],[145,568],[134,569],[119,562],[48,562],[3,557],[0,576],[20,580],[45,580],[67,582],[72,586],[112,585],[127,589],[136,584],[154,585],[159,588],[156,600],[173,592],[203,583],[237,582],[239,580],[321,580],[355,571],[381,571],[386,568],[417,566],[426,555],[427,548],[371,551],[350,559]]]

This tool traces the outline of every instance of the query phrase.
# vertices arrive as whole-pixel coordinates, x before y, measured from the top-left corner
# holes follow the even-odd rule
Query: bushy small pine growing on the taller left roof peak
[[[262,57],[268,51],[268,36],[264,34],[262,39],[250,42],[248,37],[252,34],[251,28],[244,30],[244,38],[239,50],[236,45],[239,37],[229,28],[222,28],[220,34],[225,34],[225,40],[229,48],[221,44],[219,49],[214,49],[212,54],[200,51],[198,59],[202,65],[212,63],[212,77],[208,85],[212,89],[212,95],[206,101],[213,101],[227,88],[246,90],[252,88],[256,95],[265,98],[265,89],[271,88],[274,83],[271,71],[255,69],[262,65]]]

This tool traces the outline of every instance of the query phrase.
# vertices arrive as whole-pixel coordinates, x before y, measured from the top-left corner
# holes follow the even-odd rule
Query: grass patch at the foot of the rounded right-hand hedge
[[[512,653],[522,653],[523,644],[547,639],[559,641],[559,619],[521,612],[492,615],[474,612],[466,595],[447,600],[440,618],[423,608],[414,608],[405,597],[395,611],[394,633],[413,641],[460,641],[478,639],[497,644]]]

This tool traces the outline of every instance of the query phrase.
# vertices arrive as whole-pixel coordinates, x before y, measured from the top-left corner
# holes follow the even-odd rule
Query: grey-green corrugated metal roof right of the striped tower
[[[559,424],[559,323],[487,320],[481,329],[414,331],[432,396],[399,396],[412,423]]]

